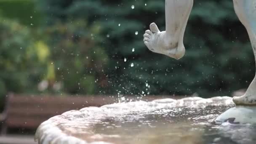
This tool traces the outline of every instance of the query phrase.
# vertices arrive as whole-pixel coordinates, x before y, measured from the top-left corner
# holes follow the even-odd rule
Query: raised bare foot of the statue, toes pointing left
[[[183,43],[178,40],[170,40],[165,31],[160,32],[155,23],[150,24],[150,30],[144,34],[144,43],[150,51],[180,59],[185,54]]]

